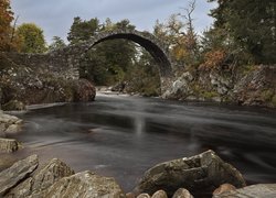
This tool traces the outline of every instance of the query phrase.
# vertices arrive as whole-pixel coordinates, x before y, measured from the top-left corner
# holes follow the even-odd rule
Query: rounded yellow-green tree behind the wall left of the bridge
[[[43,30],[34,23],[21,24],[17,29],[17,35],[21,38],[21,52],[43,53],[46,51]]]

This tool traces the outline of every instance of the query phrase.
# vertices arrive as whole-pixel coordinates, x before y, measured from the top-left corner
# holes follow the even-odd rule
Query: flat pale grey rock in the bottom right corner
[[[258,184],[246,186],[241,189],[231,190],[224,194],[213,196],[213,198],[275,198],[276,197],[276,184]]]

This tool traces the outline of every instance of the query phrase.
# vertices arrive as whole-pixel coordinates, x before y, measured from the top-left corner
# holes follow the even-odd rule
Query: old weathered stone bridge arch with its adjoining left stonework
[[[49,63],[51,64],[47,65],[51,69],[63,69],[64,73],[66,72],[68,74],[64,75],[66,78],[67,76],[70,78],[72,76],[74,76],[74,78],[78,78],[81,63],[85,59],[86,53],[102,42],[117,38],[129,40],[145,47],[157,62],[161,82],[161,94],[170,88],[174,77],[172,70],[174,64],[171,61],[169,47],[149,32],[132,30],[98,32],[88,41],[83,41],[78,44],[50,52],[46,56],[49,56]],[[64,67],[66,67],[66,69],[64,69]]]

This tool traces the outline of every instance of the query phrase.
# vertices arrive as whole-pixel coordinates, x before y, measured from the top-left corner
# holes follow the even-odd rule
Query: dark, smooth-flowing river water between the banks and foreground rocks
[[[248,184],[276,183],[276,111],[153,98],[97,96],[91,103],[31,109],[14,134],[45,162],[113,176],[128,191],[152,165],[214,150]]]

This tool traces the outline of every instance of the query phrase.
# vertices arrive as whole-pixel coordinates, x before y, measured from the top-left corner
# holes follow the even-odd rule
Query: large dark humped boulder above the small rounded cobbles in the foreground
[[[209,194],[222,184],[244,187],[242,174],[232,165],[223,162],[213,151],[192,157],[164,162],[148,169],[135,193],[152,195],[159,189],[172,196],[179,188],[187,188],[193,195]]]

